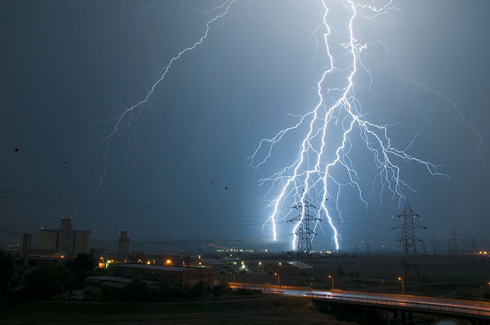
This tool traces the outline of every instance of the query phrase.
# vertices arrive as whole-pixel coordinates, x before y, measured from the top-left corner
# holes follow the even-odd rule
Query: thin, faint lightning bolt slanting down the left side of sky
[[[236,0],[226,0],[222,5],[216,6],[212,10],[203,11],[203,12],[206,12],[206,13],[213,13],[216,10],[223,9],[223,11],[221,12],[221,14],[218,14],[218,15],[214,16],[214,18],[212,18],[211,20],[209,20],[206,23],[206,28],[205,28],[204,36],[202,36],[201,38],[199,38],[199,40],[196,43],[194,43],[192,46],[189,46],[189,47],[184,48],[183,50],[181,50],[176,56],[174,56],[169,61],[169,63],[167,64],[167,66],[165,66],[163,68],[156,69],[156,70],[153,71],[152,76],[148,77],[145,81],[147,81],[151,77],[157,75],[156,81],[153,83],[153,85],[147,91],[145,97],[141,101],[139,101],[138,103],[134,104],[133,106],[126,107],[124,109],[123,113],[120,116],[113,117],[113,118],[111,118],[109,120],[106,120],[106,121],[97,121],[93,125],[91,125],[91,126],[89,126],[89,127],[87,127],[87,128],[84,129],[84,130],[89,129],[89,128],[91,128],[91,127],[93,127],[93,126],[95,126],[96,124],[99,124],[99,123],[111,123],[111,122],[114,123],[114,127],[113,127],[112,131],[104,139],[101,139],[98,143],[95,143],[95,144],[90,145],[89,148],[87,148],[87,150],[86,150],[86,151],[90,151],[92,153],[98,146],[105,145],[105,152],[104,152],[104,156],[103,156],[104,169],[103,169],[102,175],[100,176],[98,186],[92,192],[90,198],[92,198],[97,193],[97,191],[101,188],[102,183],[104,182],[104,179],[105,179],[105,176],[106,176],[106,173],[107,173],[107,155],[109,154],[110,144],[111,144],[112,138],[119,131],[123,132],[123,130],[124,131],[127,131],[127,132],[131,131],[134,134],[134,141],[129,146],[128,154],[126,155],[125,165],[124,165],[123,169],[118,173],[118,175],[115,178],[112,179],[109,187],[114,183],[114,181],[127,168],[128,159],[131,156],[131,150],[132,150],[133,146],[136,144],[136,140],[137,140],[137,137],[136,137],[136,128],[134,126],[134,123],[137,121],[137,119],[138,119],[138,117],[139,117],[142,109],[145,107],[145,105],[149,106],[151,104],[151,99],[153,98],[153,93],[154,93],[157,85],[162,80],[164,80],[165,76],[167,75],[167,72],[170,70],[170,68],[172,67],[172,65],[174,64],[175,61],[177,61],[178,59],[180,59],[180,57],[183,54],[185,54],[186,52],[189,52],[189,51],[192,51],[193,49],[195,49],[197,46],[199,46],[206,39],[206,37],[208,36],[208,33],[209,33],[209,30],[211,28],[211,24],[212,23],[214,23],[215,21],[221,19],[221,26],[222,26],[222,19],[223,19],[223,17],[228,13],[231,4],[233,2],[235,2],[235,1]],[[155,3],[156,3],[156,1],[155,1]],[[153,7],[155,5],[155,3],[153,3],[152,6],[149,6],[149,7],[147,7],[146,9],[144,9],[142,11],[145,11],[145,10]]]

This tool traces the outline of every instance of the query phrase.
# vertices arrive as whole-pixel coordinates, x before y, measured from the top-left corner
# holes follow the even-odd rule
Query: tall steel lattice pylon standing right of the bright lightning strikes
[[[414,223],[414,219],[422,220],[417,213],[412,211],[410,203],[407,200],[405,203],[405,209],[402,213],[397,215],[398,218],[403,220],[403,224],[394,227],[393,229],[401,230],[401,237],[397,241],[402,242],[405,248],[405,279],[417,278],[420,279],[420,271],[418,269],[418,259],[417,259],[417,248],[415,246],[415,241],[421,241],[415,236],[415,229],[422,228],[427,229],[424,226],[417,225]]]

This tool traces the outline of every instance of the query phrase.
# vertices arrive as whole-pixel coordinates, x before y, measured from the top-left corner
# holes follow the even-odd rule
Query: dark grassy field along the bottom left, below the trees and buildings
[[[3,301],[0,324],[326,324],[349,325],[322,314],[306,298],[264,296],[204,302],[112,303]]]

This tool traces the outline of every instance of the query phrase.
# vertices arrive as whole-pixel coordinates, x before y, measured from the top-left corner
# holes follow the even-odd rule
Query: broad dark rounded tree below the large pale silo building
[[[72,273],[63,265],[43,265],[25,276],[25,288],[33,298],[52,298],[72,288]]]

